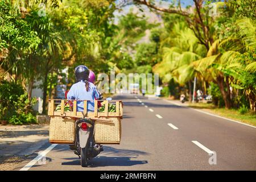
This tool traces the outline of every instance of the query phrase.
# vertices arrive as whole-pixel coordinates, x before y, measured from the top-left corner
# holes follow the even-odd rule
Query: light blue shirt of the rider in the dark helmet
[[[89,82],[89,81],[88,81]],[[68,100],[89,100],[87,101],[87,111],[94,111],[94,101],[100,94],[96,86],[89,82],[89,90],[86,91],[85,82],[79,81],[71,86],[67,94]],[[84,111],[84,101],[77,101],[77,111]]]

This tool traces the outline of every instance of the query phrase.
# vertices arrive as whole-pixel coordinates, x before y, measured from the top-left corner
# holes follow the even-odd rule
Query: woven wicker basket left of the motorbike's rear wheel
[[[50,143],[75,143],[75,120],[68,117],[53,116],[49,125]]]

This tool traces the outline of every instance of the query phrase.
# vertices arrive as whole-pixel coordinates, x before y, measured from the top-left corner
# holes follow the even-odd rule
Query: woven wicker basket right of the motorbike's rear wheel
[[[95,121],[94,138],[100,144],[119,144],[121,140],[121,118],[120,117],[100,117],[108,119],[111,123]]]

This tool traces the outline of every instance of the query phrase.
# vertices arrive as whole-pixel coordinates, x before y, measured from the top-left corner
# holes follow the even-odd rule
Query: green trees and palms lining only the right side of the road
[[[160,74],[164,83],[173,80],[187,90],[190,100],[196,77],[196,88],[203,90],[204,95],[211,94],[216,105],[255,111],[254,5],[250,1],[205,1],[218,7],[218,14],[210,16],[209,6],[202,2],[195,1],[196,8],[189,18],[179,13],[162,16],[163,56],[153,71]],[[197,27],[193,21],[201,25]]]

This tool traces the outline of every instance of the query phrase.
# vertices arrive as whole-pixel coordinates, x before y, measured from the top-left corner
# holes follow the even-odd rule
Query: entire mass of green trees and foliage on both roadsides
[[[196,78],[196,88],[210,94],[214,104],[255,111],[253,0],[194,0],[187,8],[172,1],[166,9],[144,0],[52,0],[44,1],[44,14],[41,1],[20,2],[0,1],[0,119],[35,122],[35,82],[42,82],[46,113],[47,98],[55,96],[57,84],[75,81],[73,69],[79,64],[96,74],[110,69],[159,73],[164,96],[183,93],[190,101]],[[149,23],[133,9],[114,15],[131,2],[141,11],[149,6],[162,22]],[[217,15],[210,14],[210,3]]]

